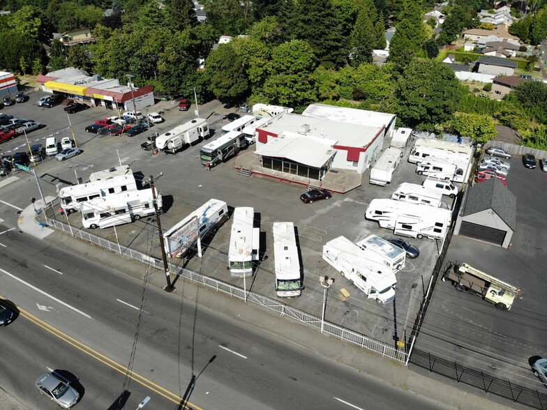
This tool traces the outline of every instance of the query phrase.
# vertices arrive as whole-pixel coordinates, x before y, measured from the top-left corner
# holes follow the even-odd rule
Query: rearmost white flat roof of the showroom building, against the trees
[[[387,128],[396,116],[395,114],[387,114],[385,112],[366,111],[365,109],[336,107],[336,105],[325,104],[310,104],[302,115],[377,128],[382,128],[382,126],[386,126]]]

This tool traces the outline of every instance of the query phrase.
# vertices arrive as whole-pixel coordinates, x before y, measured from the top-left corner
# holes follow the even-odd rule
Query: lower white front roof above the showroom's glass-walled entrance
[[[258,155],[287,158],[309,167],[320,168],[336,153],[336,150],[332,149],[334,144],[336,141],[331,139],[285,132],[255,152]]]

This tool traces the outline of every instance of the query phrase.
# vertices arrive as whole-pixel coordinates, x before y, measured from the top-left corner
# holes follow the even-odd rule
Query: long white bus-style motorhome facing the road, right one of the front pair
[[[298,257],[297,238],[292,222],[274,222],[274,265],[276,292],[280,298],[302,294],[302,273]]]

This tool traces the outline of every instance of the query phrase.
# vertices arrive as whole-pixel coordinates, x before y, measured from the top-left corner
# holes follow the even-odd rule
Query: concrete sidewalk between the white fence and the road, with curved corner
[[[47,197],[46,202],[52,200],[52,197]],[[37,201],[38,203],[38,201]],[[45,238],[56,243],[60,247],[70,248],[75,250],[80,255],[86,254],[87,257],[93,259],[97,263],[106,264],[110,268],[117,271],[130,274],[138,280],[142,280],[143,275],[147,274],[147,268],[138,264],[136,261],[119,257],[114,252],[103,250],[95,247],[84,241],[74,241],[70,235],[64,235],[48,227],[38,225],[38,221],[34,219],[35,213],[32,206],[27,207],[21,213],[18,225],[22,231],[31,234],[38,238]],[[93,252],[89,252],[90,247],[93,247]],[[163,273],[151,271],[148,273],[149,283],[160,289],[165,287],[165,276]],[[225,314],[227,317],[243,321],[249,326],[260,329],[262,333],[271,334],[272,337],[284,338],[287,342],[297,344],[316,354],[330,358],[333,362],[340,363],[350,367],[357,372],[368,374],[392,386],[396,386],[410,393],[427,397],[433,402],[443,404],[444,406],[454,409],[492,409],[509,410],[515,408],[524,408],[522,406],[510,406],[510,402],[503,400],[495,395],[484,395],[475,388],[466,386],[465,384],[457,384],[456,381],[444,379],[438,375],[432,375],[439,380],[431,379],[424,375],[426,370],[418,370],[414,372],[402,363],[395,363],[373,354],[370,351],[360,349],[357,346],[340,342],[336,337],[320,335],[317,331],[306,327],[299,322],[291,319],[281,319],[277,315],[264,310],[254,304],[246,304],[237,299],[221,296],[216,292],[200,287],[191,282],[176,281],[177,293],[186,301],[195,303],[201,307],[214,310],[220,314]],[[199,301],[197,301],[199,296]],[[280,326],[280,321],[283,321],[285,331],[279,333],[276,329]],[[419,372],[424,372],[420,374]],[[13,406],[13,407],[9,407]],[[0,390],[0,409],[7,410],[24,410],[15,400],[10,400],[5,392]]]

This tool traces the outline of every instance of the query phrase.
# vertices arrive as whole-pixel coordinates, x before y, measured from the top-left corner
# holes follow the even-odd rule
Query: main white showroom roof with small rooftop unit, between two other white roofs
[[[300,134],[302,126],[308,125],[309,131]],[[277,121],[265,126],[257,127],[281,135],[283,132],[331,139],[334,144],[351,147],[364,147],[373,141],[381,127],[371,127],[356,123],[334,121],[334,119],[315,118],[299,114],[284,114]]]

